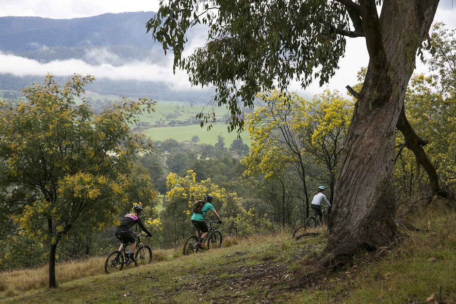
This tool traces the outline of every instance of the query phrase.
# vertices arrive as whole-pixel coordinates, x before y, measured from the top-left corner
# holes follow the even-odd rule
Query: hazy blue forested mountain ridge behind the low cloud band
[[[146,34],[146,23],[154,15],[154,12],[128,12],[72,19],[0,17],[0,55],[14,55],[39,64],[76,59],[95,67],[144,63],[164,69],[162,45],[154,41],[151,34]],[[199,33],[191,31],[189,41]],[[151,68],[150,73],[156,72]],[[73,73],[69,71],[68,75],[55,78],[64,81]],[[16,71],[0,73],[0,89],[17,91],[32,83],[41,83],[44,77],[32,72],[27,74],[27,71],[23,74]],[[95,82],[87,85],[86,89],[101,95],[148,96],[155,100],[204,103],[214,95],[212,89],[176,89],[165,80],[95,77]]]

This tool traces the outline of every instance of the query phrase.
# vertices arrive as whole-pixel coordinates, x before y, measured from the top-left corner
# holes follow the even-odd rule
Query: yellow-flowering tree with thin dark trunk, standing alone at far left
[[[92,76],[60,87],[52,75],[23,89],[26,102],[1,104],[0,183],[16,227],[49,246],[49,287],[55,287],[57,245],[114,224],[130,200],[151,202],[148,175],[133,174],[135,154],[153,147],[132,134],[147,99],[115,102],[94,115],[82,98]]]

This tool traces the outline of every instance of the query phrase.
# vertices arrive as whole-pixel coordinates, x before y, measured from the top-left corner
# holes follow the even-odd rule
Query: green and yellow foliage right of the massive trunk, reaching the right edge
[[[405,98],[407,117],[410,125],[419,135],[420,144],[435,164],[436,175],[442,186],[432,187],[432,179],[424,174],[425,163],[412,155],[405,147],[409,144],[402,136],[396,140],[399,148],[396,156],[396,185],[400,189],[402,201],[410,201],[409,196],[419,195],[430,202],[435,194],[454,191],[456,164],[453,147],[456,144],[456,56],[455,30],[448,30],[444,24],[434,25],[431,35],[431,54],[427,60],[431,71],[437,74],[414,75]],[[429,180],[431,182],[429,182]],[[435,183],[434,183],[435,184]],[[431,186],[431,187],[429,187]],[[404,197],[403,195],[407,195]],[[453,194],[454,195],[454,194]],[[412,196],[412,197],[413,197]],[[413,199],[412,199],[413,200]]]

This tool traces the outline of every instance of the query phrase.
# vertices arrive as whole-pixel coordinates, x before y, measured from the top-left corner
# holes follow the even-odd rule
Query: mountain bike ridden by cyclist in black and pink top
[[[131,243],[122,242],[124,245],[122,250],[114,250],[106,258],[106,261],[104,262],[104,271],[106,274],[121,271],[124,266],[127,267],[131,263],[134,263],[135,266],[138,266],[141,264],[149,264],[152,261],[152,249],[149,245],[144,244],[140,240],[140,237],[146,237],[147,234],[135,231],[131,231],[131,233],[136,238],[136,252],[134,253],[134,261],[126,258],[128,253],[126,248]]]

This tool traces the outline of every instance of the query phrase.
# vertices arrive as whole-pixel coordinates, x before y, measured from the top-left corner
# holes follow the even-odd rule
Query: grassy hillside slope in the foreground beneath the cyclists
[[[354,256],[307,288],[296,281],[321,254],[326,233],[302,241],[287,232],[226,238],[223,248],[193,256],[157,250],[152,264],[110,275],[104,257],[60,264],[55,289],[46,288],[46,267],[1,273],[0,302],[455,303],[455,220],[445,208],[403,218],[395,246]]]

